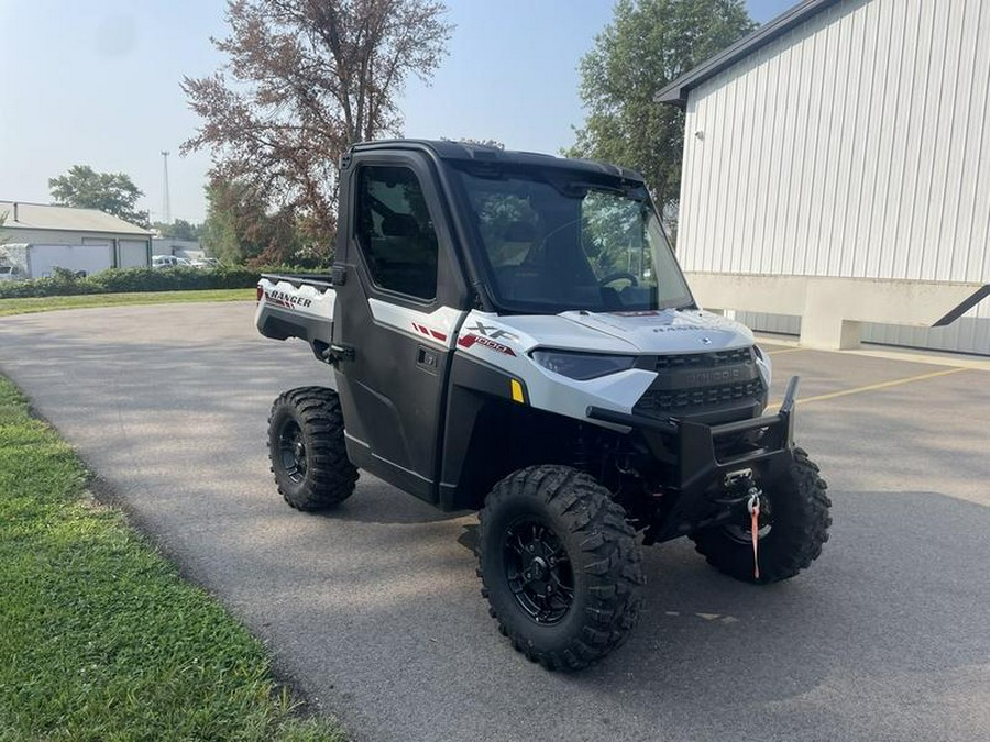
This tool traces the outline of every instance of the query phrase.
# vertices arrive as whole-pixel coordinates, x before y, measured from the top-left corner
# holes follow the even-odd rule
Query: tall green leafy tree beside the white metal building
[[[657,93],[755,27],[743,0],[619,0],[581,59],[587,118],[568,154],[638,170],[662,212],[675,211],[684,114]]]

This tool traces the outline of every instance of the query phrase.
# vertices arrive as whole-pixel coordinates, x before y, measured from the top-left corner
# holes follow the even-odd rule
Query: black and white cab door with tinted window
[[[348,455],[438,501],[451,354],[466,314],[447,210],[420,153],[358,153],[334,264],[333,345]],[[343,196],[343,193],[342,193]]]

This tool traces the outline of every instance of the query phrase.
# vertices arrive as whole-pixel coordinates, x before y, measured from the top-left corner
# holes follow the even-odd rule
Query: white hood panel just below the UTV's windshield
[[[752,345],[752,332],[697,309],[642,312],[564,312],[561,317],[636,346],[640,353],[698,353]]]

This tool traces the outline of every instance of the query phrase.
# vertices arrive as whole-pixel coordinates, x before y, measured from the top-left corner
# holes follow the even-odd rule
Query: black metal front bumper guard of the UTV
[[[714,485],[746,469],[759,470],[760,479],[772,480],[793,458],[794,402],[799,377],[788,384],[783,402],[773,414],[760,418],[705,424],[676,418],[656,419],[626,414],[598,407],[587,408],[587,417],[642,433],[658,458],[674,464],[669,483],[673,505],[666,510],[661,523],[652,530],[652,541],[667,541],[690,532],[711,517],[710,492]],[[747,445],[733,442],[747,441]],[[722,500],[726,503],[725,500]]]

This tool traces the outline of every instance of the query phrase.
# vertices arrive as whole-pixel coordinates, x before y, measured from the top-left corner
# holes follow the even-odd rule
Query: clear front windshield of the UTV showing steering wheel
[[[499,308],[521,313],[693,306],[646,189],[581,173],[461,171]]]

